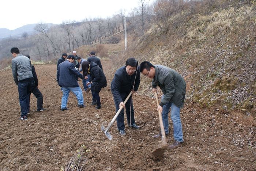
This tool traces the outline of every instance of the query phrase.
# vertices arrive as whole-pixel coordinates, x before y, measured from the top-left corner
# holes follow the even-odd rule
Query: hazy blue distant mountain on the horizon
[[[57,25],[48,23],[49,26]],[[7,37],[16,37],[20,38],[22,37],[23,33],[27,33],[28,35],[31,35],[35,33],[34,27],[36,24],[27,24],[25,26],[16,28],[15,30],[9,30],[7,28],[0,28],[0,39],[7,38]]]

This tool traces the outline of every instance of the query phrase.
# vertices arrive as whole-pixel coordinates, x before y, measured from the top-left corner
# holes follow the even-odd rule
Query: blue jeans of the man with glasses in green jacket
[[[165,128],[165,134],[169,134],[168,113],[169,113],[170,107],[172,107],[171,119],[173,122],[174,140],[183,142],[184,140],[183,140],[183,133],[182,133],[182,125],[180,120],[180,107],[175,106],[175,104],[173,104],[172,102],[168,102],[165,105],[163,105],[162,119],[163,119],[163,127]]]

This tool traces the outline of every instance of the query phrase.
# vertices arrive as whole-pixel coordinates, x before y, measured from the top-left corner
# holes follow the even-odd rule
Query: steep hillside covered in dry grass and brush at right
[[[218,11],[172,15],[153,24],[131,51],[140,62],[178,71],[187,82],[187,100],[205,107],[220,101],[223,110],[256,117],[255,4]]]

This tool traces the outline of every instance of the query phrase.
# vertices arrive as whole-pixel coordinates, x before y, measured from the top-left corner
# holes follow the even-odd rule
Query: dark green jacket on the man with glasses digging
[[[181,75],[163,65],[155,66],[155,77],[152,79],[153,88],[160,87],[165,97],[161,100],[163,107],[169,101],[177,107],[183,107],[186,94],[186,83]]]

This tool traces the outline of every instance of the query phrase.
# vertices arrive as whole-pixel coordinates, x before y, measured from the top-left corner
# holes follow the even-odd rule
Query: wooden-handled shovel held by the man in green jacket
[[[157,92],[155,91],[154,93],[155,93],[155,98],[157,99],[157,106],[159,106]],[[162,145],[162,147],[159,147],[159,148],[155,149],[151,154],[154,155],[154,156],[162,157],[163,153],[165,152],[165,149],[168,146],[168,144],[166,142],[165,128],[163,128],[163,119],[162,119],[162,114],[161,114],[160,110],[158,110],[158,115],[159,115],[159,121],[160,121],[160,128],[161,128],[163,145]]]

